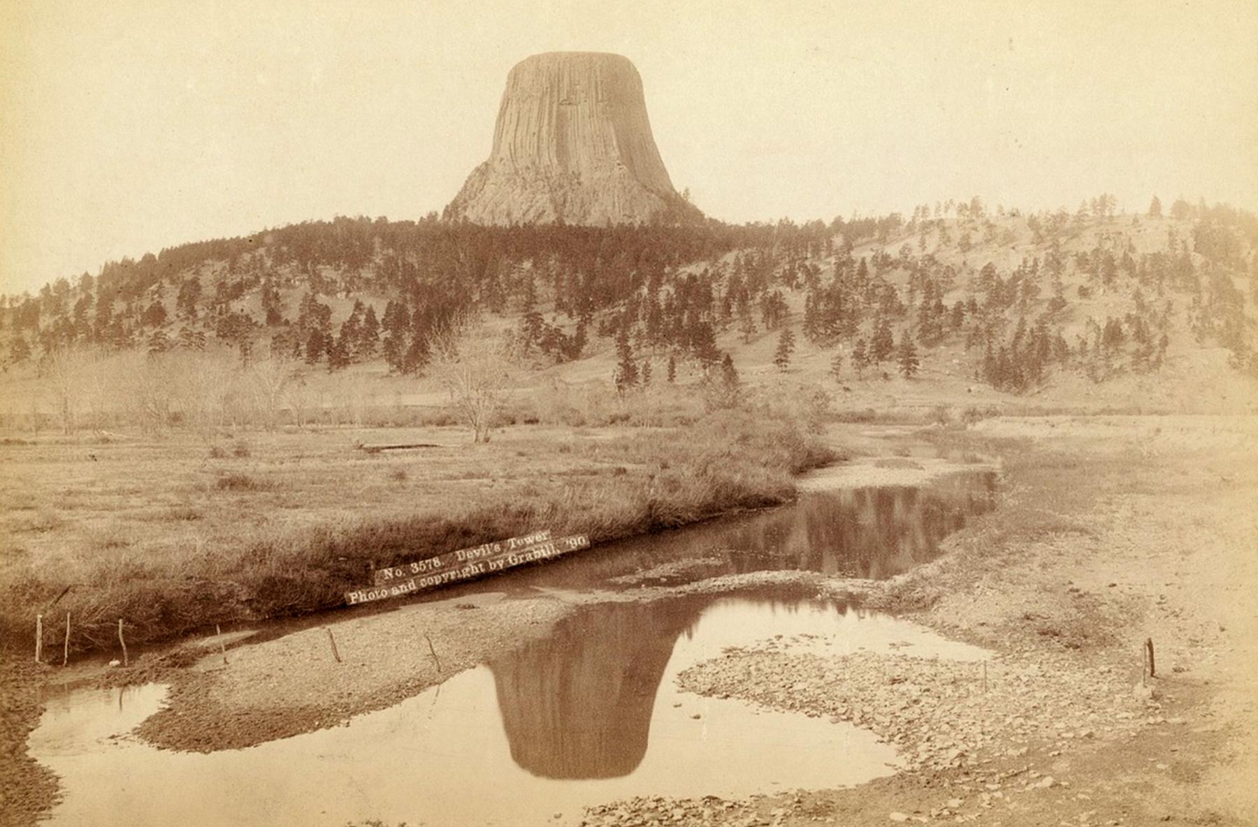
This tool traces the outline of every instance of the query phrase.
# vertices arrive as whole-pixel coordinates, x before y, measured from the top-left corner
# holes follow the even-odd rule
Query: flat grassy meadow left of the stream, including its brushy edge
[[[832,459],[803,408],[667,425],[288,427],[13,436],[0,447],[0,628],[148,642],[333,607],[376,564],[528,530],[595,543],[794,495]],[[628,419],[628,417],[626,417]],[[815,424],[814,424],[815,425]],[[360,444],[438,447],[367,452]],[[596,552],[595,552],[596,553]]]

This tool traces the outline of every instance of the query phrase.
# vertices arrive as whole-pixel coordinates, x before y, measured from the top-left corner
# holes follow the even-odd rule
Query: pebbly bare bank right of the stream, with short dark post
[[[751,801],[616,802],[584,823],[1254,823],[1255,422],[1068,419],[940,432],[1003,456],[1001,507],[867,600],[995,651],[985,684],[972,664],[911,650],[819,657],[790,641],[681,676],[857,721],[907,772]],[[1156,676],[1142,680],[1147,638]]]

